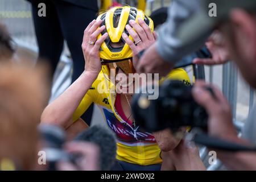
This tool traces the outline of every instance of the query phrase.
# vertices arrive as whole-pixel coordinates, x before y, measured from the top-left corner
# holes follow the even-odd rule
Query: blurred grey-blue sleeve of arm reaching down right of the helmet
[[[175,0],[169,7],[167,22],[160,27],[156,41],[156,51],[164,60],[175,64],[182,57],[197,51],[208,39],[210,32],[205,35],[205,39],[190,43],[183,43],[177,38],[181,25],[196,14],[199,4],[200,0]]]

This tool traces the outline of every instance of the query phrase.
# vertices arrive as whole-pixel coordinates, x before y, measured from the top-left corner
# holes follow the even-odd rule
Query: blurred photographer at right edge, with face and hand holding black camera
[[[217,17],[208,15],[209,3],[215,3]],[[205,32],[218,29],[225,44],[222,49],[228,52],[229,60],[240,69],[243,78],[256,88],[256,1],[251,0],[215,0],[201,3],[199,11],[181,27],[178,37],[185,43],[191,38],[203,40]],[[207,61],[207,60],[205,60]],[[211,86],[215,98],[205,86]],[[233,126],[232,113],[226,98],[215,86],[203,81],[193,88],[195,100],[205,107],[209,114],[208,133],[213,137],[247,146],[256,144],[256,108],[249,114],[242,131],[242,138],[237,136]],[[256,170],[256,152],[217,151],[217,157],[230,169]]]

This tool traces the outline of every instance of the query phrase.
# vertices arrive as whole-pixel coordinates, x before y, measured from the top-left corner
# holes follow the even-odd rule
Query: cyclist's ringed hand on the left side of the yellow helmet
[[[102,20],[93,20],[84,31],[84,38],[82,40],[82,52],[85,59],[85,72],[98,75],[101,71],[100,61],[100,47],[104,40],[108,37],[108,33],[105,33],[97,40],[97,36],[105,29],[105,26],[100,26]],[[97,41],[96,41],[97,40]]]

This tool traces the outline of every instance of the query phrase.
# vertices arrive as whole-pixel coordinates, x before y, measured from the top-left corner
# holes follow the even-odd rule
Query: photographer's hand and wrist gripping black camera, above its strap
[[[210,87],[214,96],[205,89]],[[226,98],[216,86],[197,81],[193,90],[196,102],[203,106],[209,115],[208,133],[214,137],[233,140],[237,138],[236,130],[232,123],[232,113]]]

